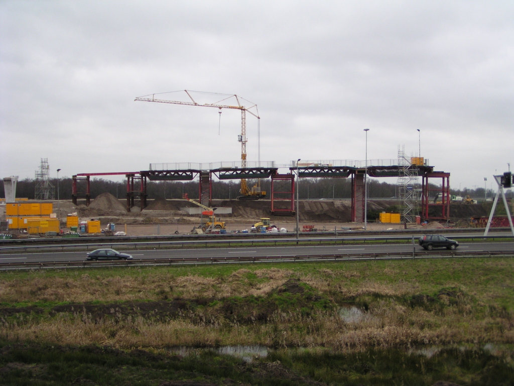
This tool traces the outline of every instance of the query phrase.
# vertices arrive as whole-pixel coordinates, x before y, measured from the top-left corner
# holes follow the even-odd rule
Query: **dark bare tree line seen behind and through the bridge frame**
[[[57,179],[50,180],[51,184],[55,187],[55,198],[57,199]],[[248,180],[247,184],[249,187],[257,184],[257,180]],[[268,193],[270,197],[271,181],[269,179],[263,179],[260,182],[261,190]],[[280,184],[280,182],[276,182]],[[280,189],[286,191],[288,187],[285,183],[282,183],[284,188]],[[79,192],[85,193],[86,183],[85,181],[78,181],[77,183]],[[135,184],[137,186],[137,183]],[[212,182],[212,197],[214,199],[235,199],[240,196],[240,180],[229,180],[229,181],[213,181]],[[431,185],[432,188],[436,188],[435,185]],[[59,198],[62,200],[71,199],[71,178],[59,179]],[[198,198],[198,181],[148,181],[146,184],[146,190],[149,199],[177,199],[182,198],[182,195],[187,193],[189,198]],[[290,189],[290,186],[289,186]],[[276,189],[277,190],[277,189]],[[352,197],[352,184],[350,179],[346,178],[305,178],[300,179],[299,183],[299,197],[300,199],[348,199]],[[35,192],[35,180],[24,179],[17,182],[16,197],[34,199]],[[90,181],[90,194],[91,198],[95,198],[98,195],[108,192],[117,198],[126,197],[126,180],[122,181],[110,181],[105,179],[91,179]],[[467,189],[464,188],[461,191],[458,189],[450,189],[452,195],[456,196],[471,196],[474,198],[485,197],[484,188]],[[495,191],[487,189],[487,197],[493,197]],[[368,180],[368,197],[370,198],[392,198],[397,197],[398,191],[396,184],[387,182],[379,182],[375,179]],[[510,191],[507,191],[507,196],[510,196]],[[0,185],[0,197],[5,197],[4,185]]]

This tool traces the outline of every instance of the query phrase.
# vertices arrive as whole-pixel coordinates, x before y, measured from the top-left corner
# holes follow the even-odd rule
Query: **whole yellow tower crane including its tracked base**
[[[190,101],[186,101],[185,102],[185,101],[178,101],[178,100],[156,99],[155,98],[156,95],[167,94],[167,93],[144,95],[144,96],[141,96],[141,97],[137,97],[135,100],[142,100],[142,101],[145,101],[145,102],[186,104],[187,106],[215,107],[215,108],[219,109],[219,113],[220,114],[221,114],[222,109],[241,110],[241,134],[237,136],[237,141],[241,142],[241,167],[242,168],[246,168],[246,143],[248,141],[247,138],[246,138],[246,112],[248,112],[249,114],[251,114],[255,118],[257,118],[258,119],[258,123],[259,123],[261,117],[259,116],[259,110],[257,109],[257,105],[255,103],[249,102],[247,100],[247,102],[252,103],[252,106],[246,108],[246,107],[242,106],[241,102],[240,102],[240,99],[243,99],[243,100],[246,100],[246,99],[241,98],[240,96],[237,96],[235,94],[229,95],[228,97],[222,99],[219,102],[223,102],[224,100],[227,100],[227,99],[230,99],[230,98],[233,97],[233,98],[235,98],[235,100],[237,102],[237,106],[231,106],[230,104],[219,104],[218,102],[216,102],[216,103],[203,103],[203,104],[200,104],[200,103],[197,103],[193,99],[193,97],[191,96],[190,93],[192,93],[193,91],[191,91],[191,90],[184,90],[184,92],[191,99],[191,102]],[[216,94],[216,93],[208,93],[208,94]],[[223,95],[223,94],[217,94],[217,95]],[[252,111],[250,111],[250,109],[253,109],[253,108],[255,108],[256,114],[253,113]],[[259,146],[260,146],[260,144],[259,144]],[[260,161],[261,160],[260,160],[260,149],[259,149],[259,162]],[[247,199],[247,200],[248,199],[249,200],[258,200],[259,198],[263,198],[263,197],[266,196],[266,192],[261,191],[260,181],[259,181],[259,186],[253,186],[253,188],[250,189],[248,187],[247,183],[246,183],[246,179],[241,179],[241,189],[240,189],[240,192],[241,192],[241,196],[237,197],[240,200],[245,200],[245,199]]]

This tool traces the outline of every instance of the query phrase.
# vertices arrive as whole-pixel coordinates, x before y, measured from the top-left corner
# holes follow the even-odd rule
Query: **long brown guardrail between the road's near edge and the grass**
[[[98,267],[137,267],[137,266],[174,266],[239,264],[259,262],[300,262],[300,261],[351,261],[351,260],[393,260],[415,258],[489,258],[495,256],[514,257],[514,252],[398,252],[352,255],[308,255],[308,256],[262,256],[262,257],[180,257],[166,259],[134,259],[121,261],[47,261],[47,262],[7,262],[0,263],[0,271],[22,269],[58,268],[98,268]]]

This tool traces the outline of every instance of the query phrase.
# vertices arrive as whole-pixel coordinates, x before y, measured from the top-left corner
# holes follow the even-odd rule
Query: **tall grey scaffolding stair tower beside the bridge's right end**
[[[405,156],[405,145],[398,146],[398,166],[400,177],[396,182],[400,202],[402,222],[416,222],[419,215],[419,179],[418,167]]]

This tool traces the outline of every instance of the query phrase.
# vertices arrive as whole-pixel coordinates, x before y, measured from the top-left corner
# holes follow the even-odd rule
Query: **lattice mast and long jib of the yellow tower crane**
[[[236,94],[230,95],[229,97],[223,99],[229,99],[234,97],[237,101],[237,106],[231,106],[230,104],[218,104],[218,103],[197,103],[193,97],[190,94],[190,91],[184,90],[184,92],[188,95],[188,97],[191,99],[191,102],[188,101],[178,101],[178,100],[168,100],[168,99],[156,99],[156,94],[151,94],[152,97],[150,98],[150,95],[145,95],[142,97],[137,97],[135,100],[145,101],[145,102],[157,102],[157,103],[171,103],[171,104],[185,104],[187,106],[200,106],[200,107],[214,107],[218,108],[220,111],[222,109],[236,109],[241,110],[241,134],[237,136],[237,141],[241,142],[241,167],[246,168],[246,112],[248,111],[251,115],[253,115],[257,119],[261,119],[259,116],[259,110],[257,109],[257,105],[253,104],[249,108],[245,108],[242,106],[241,102],[239,101],[239,98]],[[159,95],[159,94],[157,94]],[[223,101],[222,100],[222,101]],[[250,102],[251,103],[251,102]],[[250,109],[255,108],[255,111],[257,114],[254,114]],[[260,156],[259,156],[260,159]],[[250,189],[248,188],[248,185],[246,184],[245,179],[241,179],[241,194],[243,196],[249,196],[250,195]]]

